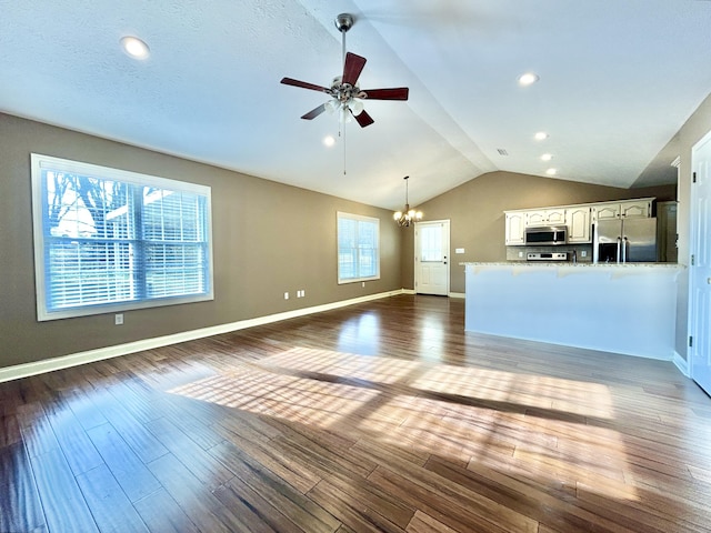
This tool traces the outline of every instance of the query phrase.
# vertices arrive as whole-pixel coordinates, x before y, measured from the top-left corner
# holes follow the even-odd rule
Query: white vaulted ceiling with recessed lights
[[[300,117],[328,97],[279,81],[330,86],[341,12],[360,86],[410,100],[327,148],[337,117]],[[711,91],[710,28],[708,0],[0,0],[0,110],[387,209],[404,175],[412,204],[493,170],[659,184]]]

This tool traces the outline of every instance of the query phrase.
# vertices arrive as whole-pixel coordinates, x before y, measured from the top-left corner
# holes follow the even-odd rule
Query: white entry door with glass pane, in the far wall
[[[414,225],[414,292],[449,295],[449,220]]]

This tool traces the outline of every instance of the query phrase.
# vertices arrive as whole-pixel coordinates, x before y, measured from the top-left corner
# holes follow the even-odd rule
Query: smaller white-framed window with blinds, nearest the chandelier
[[[380,220],[338,213],[338,282],[380,279]]]

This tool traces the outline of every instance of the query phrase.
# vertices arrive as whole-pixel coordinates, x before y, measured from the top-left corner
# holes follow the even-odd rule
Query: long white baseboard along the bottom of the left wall
[[[369,294],[365,296],[353,298],[351,300],[342,300],[340,302],[324,303],[322,305],[314,305],[312,308],[297,309],[293,311],[286,311],[283,313],[241,320],[239,322],[231,322],[229,324],[213,325],[210,328],[202,328],[200,330],[183,331],[181,333],[174,333],[172,335],[157,336],[154,339],[144,339],[142,341],[128,342],[126,344],[117,344],[114,346],[99,348],[97,350],[71,353],[69,355],[46,359],[32,363],[6,366],[3,369],[0,369],[0,383],[6,381],[19,380],[20,378],[28,378],[30,375],[42,374],[44,372],[52,372],[54,370],[69,369],[71,366],[92,363],[94,361],[102,361],[104,359],[128,355],[129,353],[141,352],[143,350],[152,350],[156,348],[168,346],[170,344],[178,344],[179,342],[193,341],[196,339],[204,339],[206,336],[230,333],[232,331],[253,328],[256,325],[270,324],[272,322],[279,322],[280,320],[294,319],[298,316],[304,316],[307,314],[330,311],[357,303],[369,302],[371,300],[397,296],[398,294],[403,293],[407,292],[403,289],[399,289],[397,291]]]

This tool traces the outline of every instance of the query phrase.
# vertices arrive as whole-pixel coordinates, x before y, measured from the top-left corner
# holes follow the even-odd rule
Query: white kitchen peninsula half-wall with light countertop
[[[467,331],[673,359],[677,264],[462,264]]]

